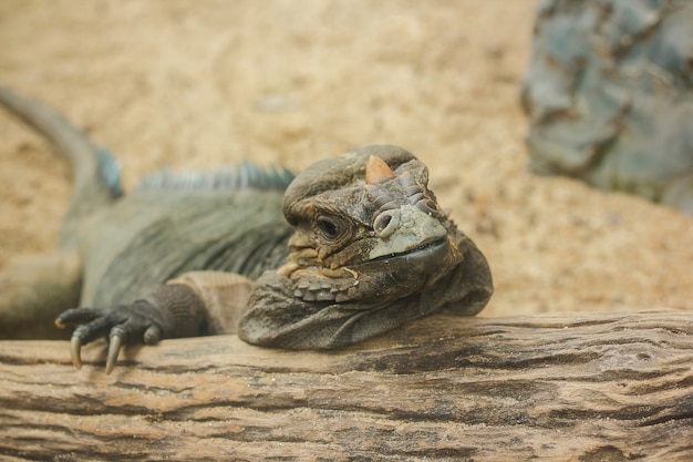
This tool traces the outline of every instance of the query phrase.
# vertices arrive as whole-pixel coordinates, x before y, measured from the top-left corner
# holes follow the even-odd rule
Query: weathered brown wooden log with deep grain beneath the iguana
[[[0,342],[10,460],[693,460],[693,314],[434,316],[333,352]]]

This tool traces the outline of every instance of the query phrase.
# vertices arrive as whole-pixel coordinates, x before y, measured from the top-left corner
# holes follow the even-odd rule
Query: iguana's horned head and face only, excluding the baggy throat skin
[[[283,203],[296,233],[281,271],[294,296],[368,306],[437,281],[459,253],[427,184],[426,166],[395,146],[366,146],[300,174]]]

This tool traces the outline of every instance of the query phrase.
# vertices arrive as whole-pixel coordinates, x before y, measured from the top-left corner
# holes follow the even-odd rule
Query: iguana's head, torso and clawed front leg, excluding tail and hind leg
[[[475,315],[493,291],[488,266],[427,181],[411,153],[366,146],[312,165],[283,198],[252,188],[76,198],[63,253],[82,256],[80,304],[101,308],[58,318],[80,325],[75,366],[102,336],[110,371],[123,343],[237,331],[261,346],[334,348],[437,310]]]

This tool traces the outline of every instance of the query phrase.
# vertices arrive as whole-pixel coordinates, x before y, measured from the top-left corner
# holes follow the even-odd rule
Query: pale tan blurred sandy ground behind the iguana
[[[164,165],[404,146],[490,261],[485,316],[693,309],[693,218],[526,173],[536,4],[3,0],[0,83],[116,153],[126,189]],[[0,191],[0,265],[50,251],[70,172],[4,113]]]

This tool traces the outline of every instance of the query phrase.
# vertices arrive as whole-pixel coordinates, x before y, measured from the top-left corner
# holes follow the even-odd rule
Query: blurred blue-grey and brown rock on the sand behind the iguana
[[[545,0],[523,84],[530,170],[693,215],[693,2]]]

